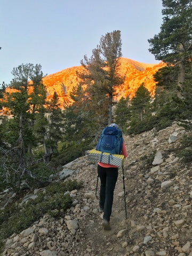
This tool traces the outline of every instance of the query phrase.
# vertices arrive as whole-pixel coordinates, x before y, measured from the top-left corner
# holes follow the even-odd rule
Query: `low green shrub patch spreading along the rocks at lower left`
[[[81,187],[82,182],[76,180],[53,183],[47,186],[44,192],[39,193],[36,199],[30,199],[25,205],[15,206],[15,203],[7,205],[0,211],[0,249],[5,238],[30,227],[44,214],[59,217],[72,202],[70,195],[65,192]]]

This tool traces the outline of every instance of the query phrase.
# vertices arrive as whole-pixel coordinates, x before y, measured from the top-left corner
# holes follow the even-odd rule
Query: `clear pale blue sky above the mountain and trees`
[[[148,39],[162,23],[162,0],[0,0],[0,85],[22,63],[41,64],[44,75],[80,66],[114,30],[122,57],[159,63]]]

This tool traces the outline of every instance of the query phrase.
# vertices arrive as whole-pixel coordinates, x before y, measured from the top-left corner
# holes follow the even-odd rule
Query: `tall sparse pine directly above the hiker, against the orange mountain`
[[[107,33],[92,51],[92,57],[88,59],[85,55],[81,62],[86,71],[80,77],[84,79],[86,93],[98,116],[102,116],[104,125],[112,122],[115,87],[124,82],[124,78],[119,75],[121,45],[121,31]]]

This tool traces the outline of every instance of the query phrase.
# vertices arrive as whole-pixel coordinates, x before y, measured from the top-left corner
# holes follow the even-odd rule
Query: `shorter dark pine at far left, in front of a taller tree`
[[[30,129],[28,120],[30,119],[28,94],[24,88],[19,92],[13,92],[7,95],[7,100],[12,118],[7,119],[2,130],[4,147],[6,150],[6,161],[2,170],[3,177],[6,177],[7,183],[17,185],[20,183],[23,175],[29,174],[28,165],[30,158],[27,149],[33,146],[35,139]],[[6,173],[4,173],[4,171]]]

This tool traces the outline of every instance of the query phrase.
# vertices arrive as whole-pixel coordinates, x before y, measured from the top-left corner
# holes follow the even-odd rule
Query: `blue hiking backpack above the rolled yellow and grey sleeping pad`
[[[96,150],[121,155],[123,147],[122,131],[116,127],[105,127],[102,130]]]

